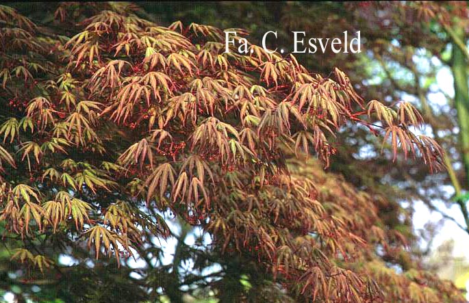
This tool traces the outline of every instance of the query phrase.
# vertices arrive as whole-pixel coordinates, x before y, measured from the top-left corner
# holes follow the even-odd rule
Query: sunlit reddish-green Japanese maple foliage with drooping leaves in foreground
[[[459,298],[433,276],[387,267],[377,248],[398,259],[405,237],[379,227],[375,198],[335,177],[329,185],[306,159],[329,166],[329,138],[355,123],[382,135],[394,159],[401,149],[438,168],[438,144],[409,131],[422,123],[410,103],[365,103],[338,68],[324,78],[255,45],[223,53],[220,29],[161,27],[132,9],[99,11],[67,38],[0,7],[8,233],[44,243],[60,234],[121,261],[147,236],[169,235],[159,214],[170,209],[301,302]],[[13,259],[51,267],[29,246]]]

